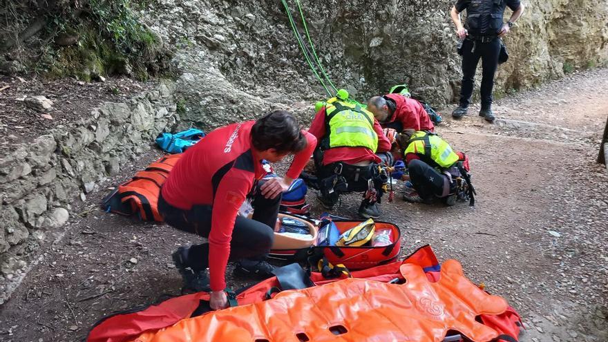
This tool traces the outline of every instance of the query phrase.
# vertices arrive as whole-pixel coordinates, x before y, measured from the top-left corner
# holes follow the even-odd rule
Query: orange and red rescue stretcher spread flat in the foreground
[[[312,287],[279,292],[276,277],[236,296],[239,305],[197,315],[209,294],[165,301],[142,312],[111,316],[87,341],[517,341],[521,321],[504,298],[471,283],[457,260],[441,270],[430,247],[402,262],[324,279]]]

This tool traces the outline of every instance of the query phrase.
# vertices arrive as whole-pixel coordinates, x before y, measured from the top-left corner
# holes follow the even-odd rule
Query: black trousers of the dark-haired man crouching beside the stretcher
[[[234,221],[229,261],[253,264],[267,258],[274,241],[274,225],[280,204],[280,195],[268,199],[256,191],[253,219],[236,216]],[[204,238],[209,238],[211,232],[212,210],[210,205],[195,205],[190,210],[182,210],[169,205],[162,196],[158,198],[158,211],[168,225]],[[209,267],[209,243],[192,245],[186,259],[186,266],[194,271]]]

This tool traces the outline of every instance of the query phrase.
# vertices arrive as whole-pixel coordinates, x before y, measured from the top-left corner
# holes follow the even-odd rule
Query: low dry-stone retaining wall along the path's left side
[[[70,203],[149,150],[179,120],[174,86],[162,84],[124,103],[104,103],[0,157],[0,304],[19,284],[46,232],[69,218]]]

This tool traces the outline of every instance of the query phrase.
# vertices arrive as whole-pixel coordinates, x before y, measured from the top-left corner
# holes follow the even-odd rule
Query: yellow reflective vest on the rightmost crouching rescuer
[[[424,156],[424,159],[430,159],[441,168],[452,167],[460,157],[454,152],[450,144],[446,140],[441,139],[434,133],[417,131],[408,140],[408,147],[403,151],[404,155],[408,153],[416,153]]]

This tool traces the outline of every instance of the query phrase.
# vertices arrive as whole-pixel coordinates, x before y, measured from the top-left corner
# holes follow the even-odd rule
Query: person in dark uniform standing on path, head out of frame
[[[511,19],[503,23],[505,8],[513,10]],[[460,13],[466,10],[466,24],[462,25]],[[460,104],[452,112],[455,118],[466,114],[468,104],[473,95],[475,69],[479,59],[482,59],[482,109],[479,116],[489,122],[494,122],[492,112],[492,89],[494,87],[494,74],[498,67],[498,57],[502,46],[501,37],[504,37],[513,28],[524,12],[524,5],[520,0],[457,0],[452,8],[451,17],[456,26],[459,39],[464,39],[462,48],[462,86],[460,89]]]

